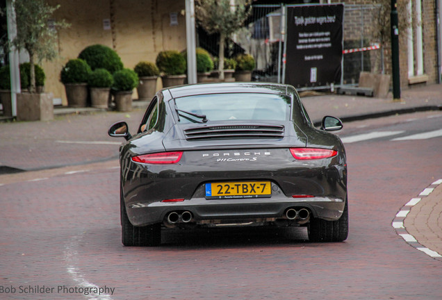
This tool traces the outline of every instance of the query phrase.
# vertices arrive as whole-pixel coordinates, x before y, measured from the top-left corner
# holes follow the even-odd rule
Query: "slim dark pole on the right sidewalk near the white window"
[[[399,28],[396,0],[391,0],[391,64],[393,70],[393,99],[400,99]]]

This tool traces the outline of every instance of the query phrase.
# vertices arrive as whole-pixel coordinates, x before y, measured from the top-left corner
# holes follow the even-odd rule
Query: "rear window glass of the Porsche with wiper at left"
[[[258,93],[204,94],[174,100],[180,123],[201,122],[202,118],[195,115],[205,115],[208,121],[285,121],[291,103],[288,96]]]

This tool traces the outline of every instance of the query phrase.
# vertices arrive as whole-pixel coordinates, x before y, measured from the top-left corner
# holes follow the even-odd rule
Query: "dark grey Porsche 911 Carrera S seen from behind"
[[[306,226],[347,239],[347,164],[335,117],[315,128],[295,88],[206,83],[156,93],[138,127],[117,122],[122,243],[155,246],[162,228]]]

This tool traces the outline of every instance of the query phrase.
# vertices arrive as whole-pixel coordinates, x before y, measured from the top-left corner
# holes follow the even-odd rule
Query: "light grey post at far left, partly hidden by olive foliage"
[[[17,36],[17,22],[12,0],[6,0],[6,11],[8,15],[8,40],[12,41]],[[11,104],[13,106],[13,117],[15,117],[17,116],[17,94],[22,92],[20,87],[19,52],[15,47],[10,49],[9,52],[9,69]]]

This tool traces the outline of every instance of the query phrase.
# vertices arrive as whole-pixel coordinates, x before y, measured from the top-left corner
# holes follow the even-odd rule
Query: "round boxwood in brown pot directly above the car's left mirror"
[[[113,93],[118,111],[132,110],[132,92],[138,86],[138,75],[131,69],[121,69],[113,74]]]

